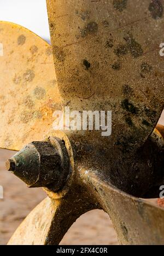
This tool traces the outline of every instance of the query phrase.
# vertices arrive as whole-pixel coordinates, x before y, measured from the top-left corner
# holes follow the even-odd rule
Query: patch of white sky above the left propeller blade
[[[0,20],[14,22],[50,42],[46,0],[1,0]]]

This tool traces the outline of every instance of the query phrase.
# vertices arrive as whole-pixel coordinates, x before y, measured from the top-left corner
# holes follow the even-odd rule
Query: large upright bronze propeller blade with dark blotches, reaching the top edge
[[[163,110],[164,1],[46,2],[64,104],[78,111],[113,111],[112,135],[85,134],[88,143],[106,147],[111,161],[138,149]],[[80,141],[83,133],[72,136]]]

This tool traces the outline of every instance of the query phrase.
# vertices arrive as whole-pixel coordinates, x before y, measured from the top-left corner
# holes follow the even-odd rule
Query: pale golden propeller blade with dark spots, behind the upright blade
[[[31,31],[0,22],[0,147],[40,141],[61,109],[51,46]]]

